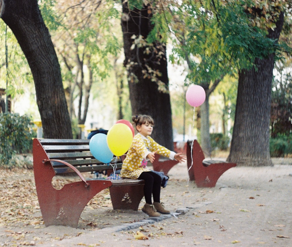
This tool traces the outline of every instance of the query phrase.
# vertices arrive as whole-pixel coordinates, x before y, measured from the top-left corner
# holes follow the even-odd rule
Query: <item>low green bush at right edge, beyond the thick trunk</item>
[[[291,154],[291,137],[286,135],[277,135],[276,138],[270,138],[271,157],[284,157],[285,154]]]

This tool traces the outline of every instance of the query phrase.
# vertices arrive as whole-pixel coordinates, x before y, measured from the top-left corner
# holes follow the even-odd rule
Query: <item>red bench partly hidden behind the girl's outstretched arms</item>
[[[173,145],[174,145],[174,152],[186,154],[186,147],[187,147],[186,142],[183,143],[182,147],[180,147],[177,142],[174,142]],[[152,163],[152,166],[153,166],[154,171],[158,171],[158,172],[162,171],[164,172],[165,175],[167,175],[169,170],[178,163],[179,162],[177,160],[170,160],[166,157],[160,156],[159,154],[155,154],[155,160]]]

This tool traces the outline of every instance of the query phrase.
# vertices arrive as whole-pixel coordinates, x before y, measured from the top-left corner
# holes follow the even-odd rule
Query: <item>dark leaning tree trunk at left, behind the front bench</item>
[[[0,17],[18,40],[32,71],[44,138],[72,139],[60,65],[37,1],[0,0]]]

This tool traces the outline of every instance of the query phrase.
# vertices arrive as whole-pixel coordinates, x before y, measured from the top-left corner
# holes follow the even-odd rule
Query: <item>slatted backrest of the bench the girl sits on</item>
[[[120,157],[113,157],[110,164],[95,159],[89,150],[90,140],[79,139],[38,139],[49,159],[65,161],[80,172],[112,170],[122,166]],[[34,154],[35,155],[35,154]],[[51,161],[56,174],[73,173],[74,171],[63,163]]]

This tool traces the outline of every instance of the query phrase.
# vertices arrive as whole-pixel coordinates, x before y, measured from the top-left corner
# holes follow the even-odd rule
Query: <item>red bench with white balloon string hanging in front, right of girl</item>
[[[187,142],[187,168],[190,180],[194,180],[197,187],[215,187],[217,180],[236,163],[225,161],[205,160],[201,146],[197,142]],[[191,154],[192,150],[192,154]]]

